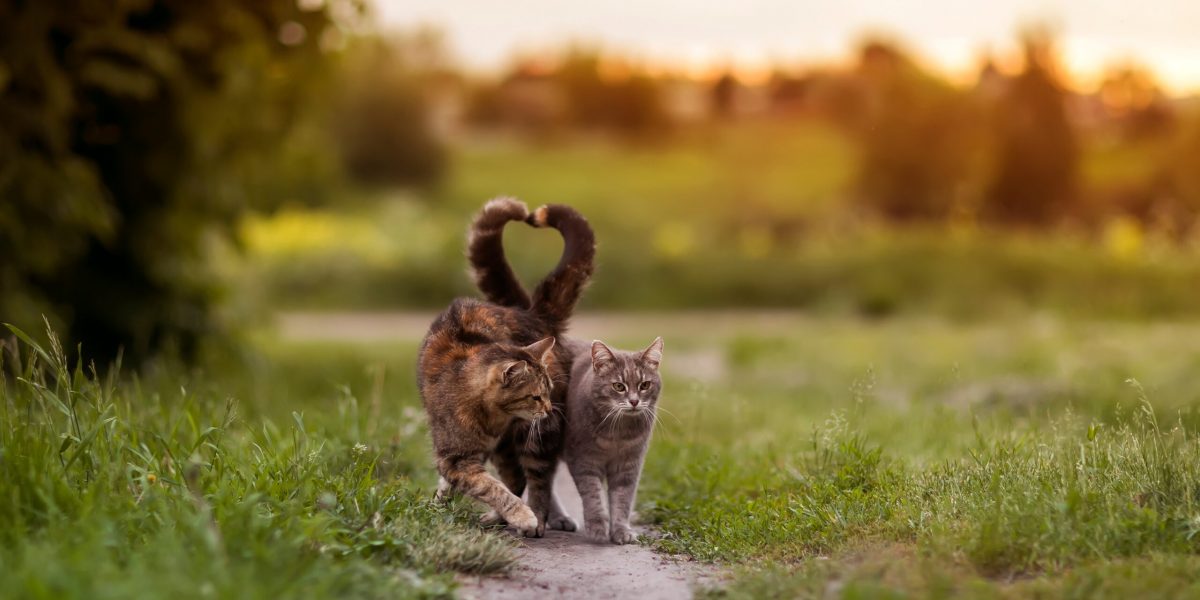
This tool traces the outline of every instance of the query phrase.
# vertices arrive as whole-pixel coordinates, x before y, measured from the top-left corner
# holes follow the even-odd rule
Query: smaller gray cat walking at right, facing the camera
[[[583,346],[572,352],[576,359],[566,397],[563,458],[583,499],[583,530],[588,538],[629,544],[637,539],[629,527],[629,512],[662,389],[662,338],[655,338],[642,352],[613,350],[602,342],[592,342],[592,352],[586,350]],[[601,498],[605,481],[611,530]]]

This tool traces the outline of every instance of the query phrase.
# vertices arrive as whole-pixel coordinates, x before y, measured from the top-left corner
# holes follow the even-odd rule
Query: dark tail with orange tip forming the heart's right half
[[[563,256],[554,270],[534,288],[532,304],[533,312],[560,334],[595,269],[595,233],[583,215],[564,204],[546,204],[526,217],[526,222],[534,227],[553,227],[563,235]]]

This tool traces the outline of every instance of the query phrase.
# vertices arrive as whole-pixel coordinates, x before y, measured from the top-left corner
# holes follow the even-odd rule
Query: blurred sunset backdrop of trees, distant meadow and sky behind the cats
[[[0,320],[104,364],[470,294],[487,198],[584,311],[1200,310],[1200,5],[0,5]],[[533,282],[560,242],[514,227]]]

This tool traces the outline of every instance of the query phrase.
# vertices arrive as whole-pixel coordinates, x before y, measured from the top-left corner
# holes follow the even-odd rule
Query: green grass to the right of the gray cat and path
[[[742,565],[713,594],[1200,593],[1195,325],[778,330],[724,340],[702,394],[668,388],[685,425],[647,464],[658,547]]]

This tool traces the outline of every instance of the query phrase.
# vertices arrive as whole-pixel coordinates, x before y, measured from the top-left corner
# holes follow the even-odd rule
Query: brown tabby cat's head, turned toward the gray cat
[[[553,360],[554,338],[529,346],[500,346],[490,377],[496,406],[503,413],[535,421],[550,414],[552,388],[546,367]]]

